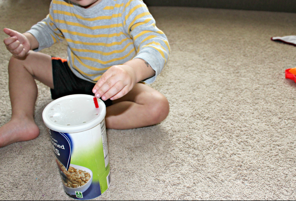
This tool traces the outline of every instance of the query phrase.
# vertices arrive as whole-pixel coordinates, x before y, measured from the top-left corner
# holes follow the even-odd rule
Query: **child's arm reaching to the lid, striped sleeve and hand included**
[[[123,27],[133,39],[137,55],[123,65],[108,69],[93,89],[97,98],[115,100],[127,94],[139,81],[152,83],[168,62],[170,46],[165,34],[142,1],[123,6]]]

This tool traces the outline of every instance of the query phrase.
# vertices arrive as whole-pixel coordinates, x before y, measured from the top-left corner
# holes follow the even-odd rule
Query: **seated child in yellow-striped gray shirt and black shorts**
[[[52,0],[49,14],[26,33],[4,29],[12,53],[8,65],[11,120],[0,128],[0,147],[39,135],[34,107],[39,80],[52,98],[90,94],[107,108],[106,127],[157,124],[169,112],[152,83],[168,62],[165,34],[141,0]],[[66,40],[67,59],[40,51]]]

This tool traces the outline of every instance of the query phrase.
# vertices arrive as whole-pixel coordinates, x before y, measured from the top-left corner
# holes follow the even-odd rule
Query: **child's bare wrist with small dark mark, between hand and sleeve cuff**
[[[150,64],[148,64],[143,59],[139,59],[139,58],[132,59],[124,63],[123,65],[128,65],[136,71],[137,82],[140,82],[142,80],[145,80],[155,75],[155,71],[152,69]]]

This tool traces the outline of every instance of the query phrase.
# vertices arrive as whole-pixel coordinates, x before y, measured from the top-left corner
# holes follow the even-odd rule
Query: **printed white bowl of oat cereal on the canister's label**
[[[89,188],[92,181],[92,171],[89,168],[70,164],[68,171],[57,161],[59,165],[60,175],[65,191],[71,195],[75,195],[75,191],[85,192]]]

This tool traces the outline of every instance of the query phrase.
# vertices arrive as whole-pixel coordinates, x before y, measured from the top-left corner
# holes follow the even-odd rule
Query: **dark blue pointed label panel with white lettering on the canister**
[[[66,171],[68,171],[72,150],[70,136],[67,133],[56,132],[51,129],[49,129],[49,134],[55,156],[57,157],[59,162],[61,162],[63,166],[65,166]]]

